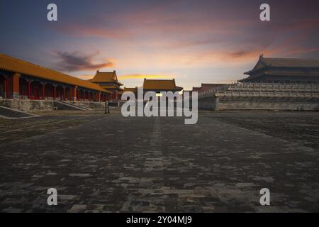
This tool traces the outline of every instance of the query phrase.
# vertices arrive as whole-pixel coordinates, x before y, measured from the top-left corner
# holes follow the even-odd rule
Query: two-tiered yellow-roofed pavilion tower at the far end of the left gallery
[[[89,81],[94,84],[99,84],[100,87],[111,92],[112,101],[118,101],[121,99],[121,94],[123,92],[121,86],[123,86],[123,84],[118,81],[116,70],[113,72],[100,72],[98,70],[96,71],[95,76]]]

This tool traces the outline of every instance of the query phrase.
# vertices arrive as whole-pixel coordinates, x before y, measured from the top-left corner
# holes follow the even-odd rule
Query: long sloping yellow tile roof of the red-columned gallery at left
[[[38,77],[41,79],[47,79],[64,84],[71,84],[79,87],[84,87],[86,89],[111,93],[100,87],[98,84],[94,84],[86,80],[79,79],[77,77],[72,77],[62,72],[50,70],[39,65],[34,65],[30,62],[25,62],[23,60],[19,60],[7,55],[0,54],[0,69],[11,72],[18,72],[21,74],[27,74],[32,77]]]

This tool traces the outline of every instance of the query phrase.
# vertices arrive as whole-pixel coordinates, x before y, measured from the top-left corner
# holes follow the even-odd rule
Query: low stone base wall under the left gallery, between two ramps
[[[6,106],[19,111],[52,111],[55,107],[54,101],[28,100],[28,99],[2,99],[0,106]]]

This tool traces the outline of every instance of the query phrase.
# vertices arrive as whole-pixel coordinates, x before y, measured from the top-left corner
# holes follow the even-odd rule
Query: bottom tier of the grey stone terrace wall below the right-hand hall
[[[283,111],[318,111],[318,98],[264,97],[264,96],[220,96],[213,101],[216,110],[257,109]]]

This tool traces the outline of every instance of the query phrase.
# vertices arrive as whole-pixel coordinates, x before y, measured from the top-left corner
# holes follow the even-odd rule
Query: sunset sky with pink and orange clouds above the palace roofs
[[[0,52],[81,79],[116,70],[125,87],[175,78],[191,89],[242,79],[261,54],[319,58],[318,11],[318,0],[1,0]]]

